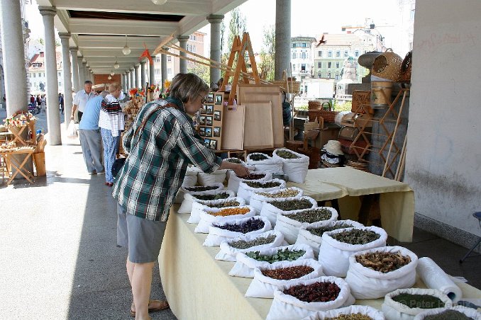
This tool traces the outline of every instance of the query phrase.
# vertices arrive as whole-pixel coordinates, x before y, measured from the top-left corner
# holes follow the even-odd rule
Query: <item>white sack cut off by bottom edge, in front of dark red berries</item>
[[[307,316],[303,320],[384,320],[384,314],[369,306],[357,306],[332,309],[316,312],[313,316]]]

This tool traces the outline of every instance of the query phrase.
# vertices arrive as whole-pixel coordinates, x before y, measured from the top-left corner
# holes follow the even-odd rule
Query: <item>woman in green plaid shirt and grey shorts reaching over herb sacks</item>
[[[206,173],[232,169],[245,176],[248,169],[222,161],[192,125],[209,86],[195,74],[177,74],[166,100],[144,105],[126,132],[123,147],[126,163],[114,183],[118,200],[117,242],[128,247],[127,273],[131,282],[131,315],[150,319],[148,312],[169,307],[166,301],[150,300],[152,271],[157,260],[172,202],[182,185],[187,165]],[[188,115],[189,114],[189,115]]]

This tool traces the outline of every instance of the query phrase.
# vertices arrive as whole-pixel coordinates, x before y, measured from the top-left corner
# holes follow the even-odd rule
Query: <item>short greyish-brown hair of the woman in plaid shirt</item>
[[[194,101],[209,92],[209,86],[195,74],[176,74],[170,84],[170,96],[182,102]]]

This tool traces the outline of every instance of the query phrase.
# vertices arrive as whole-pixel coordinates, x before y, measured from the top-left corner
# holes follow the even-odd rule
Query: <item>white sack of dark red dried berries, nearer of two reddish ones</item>
[[[355,302],[341,278],[319,277],[277,287],[266,320],[292,320],[319,311],[348,307]]]

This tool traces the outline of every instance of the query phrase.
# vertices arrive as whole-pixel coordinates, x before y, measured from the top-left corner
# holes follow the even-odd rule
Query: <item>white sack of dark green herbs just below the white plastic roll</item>
[[[414,320],[414,316],[426,309],[451,305],[449,297],[436,289],[398,289],[385,295],[382,312],[387,320]]]

